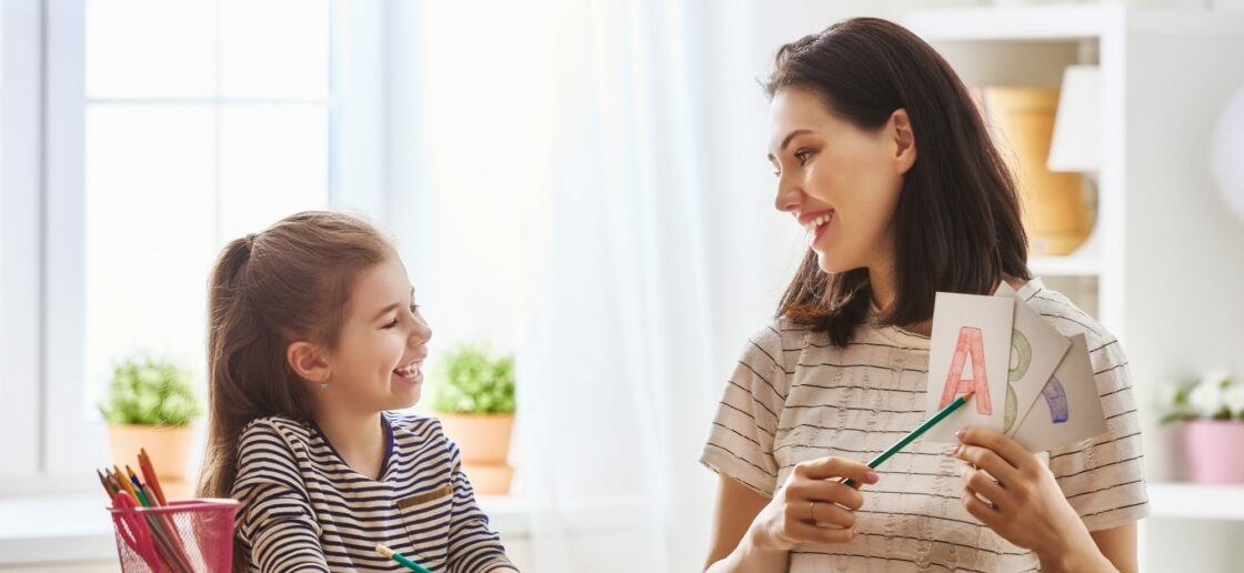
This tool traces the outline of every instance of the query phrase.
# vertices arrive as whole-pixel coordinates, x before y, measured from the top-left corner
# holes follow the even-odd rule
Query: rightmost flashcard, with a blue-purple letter
[[[1088,346],[1084,334],[1076,334],[1041,390],[1041,399],[1028,410],[1011,438],[1029,451],[1045,451],[1105,431],[1106,414],[1088,362]]]

